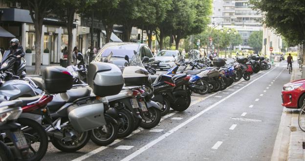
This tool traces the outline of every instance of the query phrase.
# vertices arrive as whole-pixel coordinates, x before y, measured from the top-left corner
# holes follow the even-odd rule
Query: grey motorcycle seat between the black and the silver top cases
[[[90,93],[91,90],[89,90],[87,87],[83,87],[68,90],[65,93],[61,93],[61,96],[66,102],[73,102],[78,98],[89,96]]]

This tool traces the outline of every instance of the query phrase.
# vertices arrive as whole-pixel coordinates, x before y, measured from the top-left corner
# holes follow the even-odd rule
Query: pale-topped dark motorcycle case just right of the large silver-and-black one
[[[152,84],[149,73],[145,68],[129,66],[123,70],[125,86],[142,86]]]

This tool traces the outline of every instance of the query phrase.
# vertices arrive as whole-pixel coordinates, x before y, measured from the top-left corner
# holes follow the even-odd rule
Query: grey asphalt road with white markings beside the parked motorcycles
[[[171,111],[152,131],[138,129],[110,146],[90,141],[76,153],[63,153],[50,143],[44,161],[269,161],[282,87],[290,80],[284,65],[221,92],[193,94],[185,112]]]

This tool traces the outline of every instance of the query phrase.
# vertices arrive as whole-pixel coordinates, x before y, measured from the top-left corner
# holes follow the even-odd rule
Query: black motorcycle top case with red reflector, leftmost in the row
[[[44,91],[49,94],[64,93],[73,85],[73,76],[64,67],[47,67],[43,71]]]

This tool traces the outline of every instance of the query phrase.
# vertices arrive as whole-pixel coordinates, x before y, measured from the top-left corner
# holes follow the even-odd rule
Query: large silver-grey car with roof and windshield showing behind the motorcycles
[[[141,59],[144,57],[149,58],[149,62],[154,61],[151,49],[145,44],[138,43],[107,43],[101,48],[99,53],[96,54],[94,61],[100,62],[112,52],[111,61],[117,66],[128,66],[128,61],[125,59],[128,56],[129,59],[132,58],[134,53],[139,53]]]

